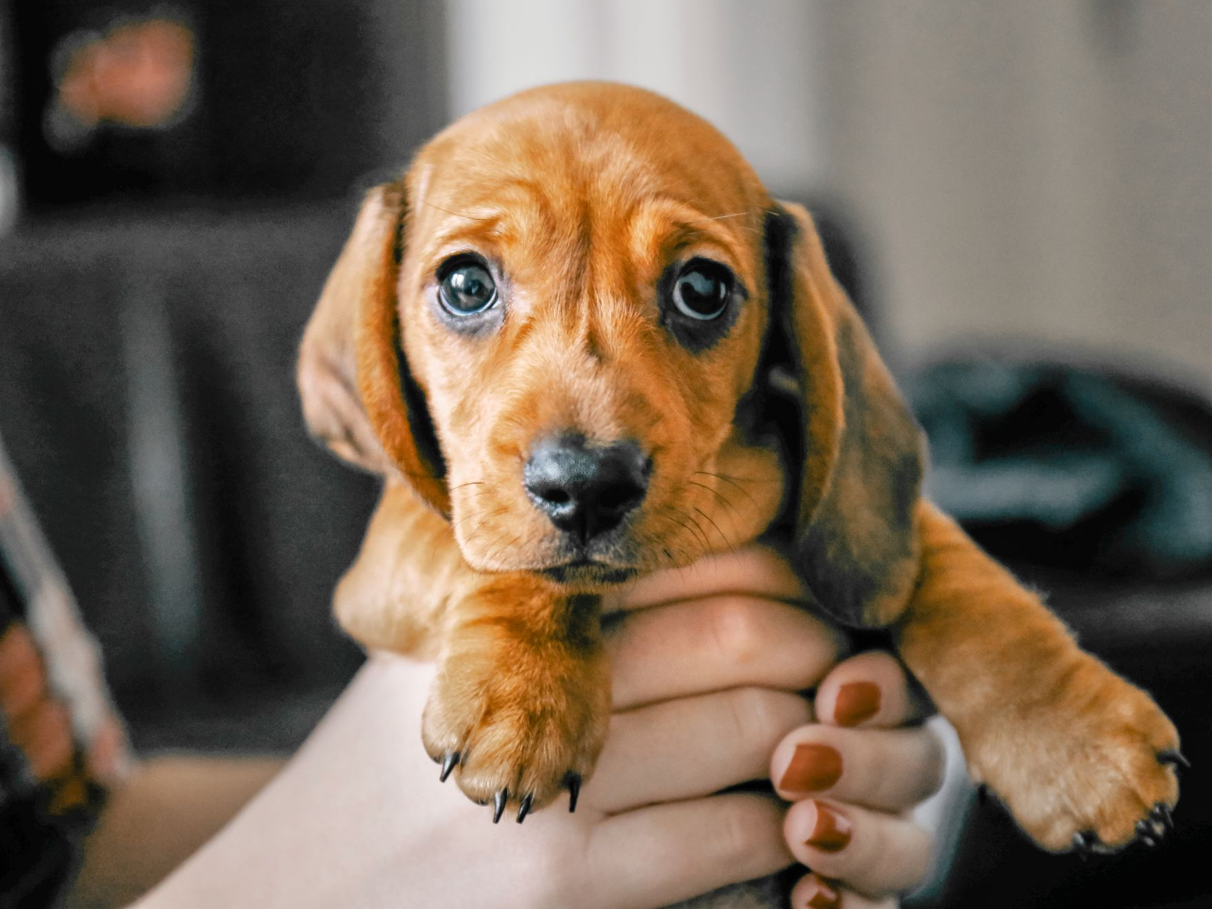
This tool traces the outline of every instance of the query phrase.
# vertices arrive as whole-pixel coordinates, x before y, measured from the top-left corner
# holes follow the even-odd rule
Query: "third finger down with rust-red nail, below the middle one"
[[[871,897],[909,890],[930,870],[930,834],[893,814],[810,799],[790,807],[783,830],[797,862]]]

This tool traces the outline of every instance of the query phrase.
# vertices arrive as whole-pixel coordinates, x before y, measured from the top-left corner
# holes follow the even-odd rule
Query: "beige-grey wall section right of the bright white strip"
[[[1024,338],[1212,393],[1212,4],[822,4],[825,170],[910,354]]]

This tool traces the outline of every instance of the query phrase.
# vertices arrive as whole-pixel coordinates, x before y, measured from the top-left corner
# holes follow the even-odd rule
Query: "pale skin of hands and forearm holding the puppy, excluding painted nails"
[[[840,881],[847,909],[894,907],[931,837],[904,812],[937,789],[942,748],[886,653],[842,654],[789,567],[749,548],[653,574],[611,604],[613,716],[576,813],[567,796],[519,827],[438,782],[419,745],[430,664],[376,654],[285,770],[143,902],[156,907],[659,907],[793,862]],[[880,690],[835,721],[851,681]],[[814,688],[811,699],[799,692]],[[833,745],[828,789],[719,794],[783,779],[795,747]],[[805,845],[821,805],[852,827]],[[808,904],[821,881],[791,894]]]

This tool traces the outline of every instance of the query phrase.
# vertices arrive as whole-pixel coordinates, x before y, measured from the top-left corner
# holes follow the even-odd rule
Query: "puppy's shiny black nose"
[[[551,524],[583,545],[617,527],[644,501],[650,468],[633,441],[599,446],[562,435],[534,446],[522,481]]]

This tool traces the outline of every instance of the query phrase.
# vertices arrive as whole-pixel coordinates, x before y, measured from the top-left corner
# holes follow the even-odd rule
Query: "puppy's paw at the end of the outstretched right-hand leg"
[[[1172,824],[1185,764],[1173,724],[1090,657],[1048,697],[960,731],[973,777],[1045,848],[1155,845]]]

